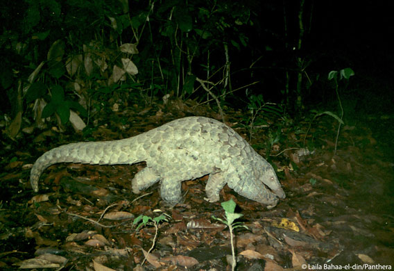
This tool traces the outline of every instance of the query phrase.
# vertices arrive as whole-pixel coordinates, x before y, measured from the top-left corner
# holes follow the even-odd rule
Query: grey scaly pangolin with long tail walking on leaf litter
[[[285,197],[273,167],[229,126],[207,117],[184,117],[123,140],[51,149],[33,165],[31,186],[37,192],[40,175],[54,163],[131,165],[141,161],[146,161],[146,167],[132,179],[132,191],[138,193],[160,181],[162,198],[171,204],[182,199],[182,181],[206,174],[209,202],[219,200],[226,183],[239,195],[268,207]]]

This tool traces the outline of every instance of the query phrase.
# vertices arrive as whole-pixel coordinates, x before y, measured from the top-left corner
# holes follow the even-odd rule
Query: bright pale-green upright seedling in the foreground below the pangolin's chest
[[[222,202],[221,206],[223,207],[225,211],[225,219],[221,219],[219,217],[215,217],[212,215],[212,218],[215,220],[219,220],[223,224],[228,226],[228,229],[230,231],[230,240],[231,240],[231,252],[232,252],[232,270],[235,270],[235,266],[237,265],[237,261],[235,260],[235,250],[234,250],[234,229],[243,227],[248,229],[245,225],[242,224],[242,222],[234,222],[234,220],[237,220],[239,217],[242,217],[243,215],[241,213],[234,213],[235,206],[237,204],[232,200],[228,200],[227,202]]]

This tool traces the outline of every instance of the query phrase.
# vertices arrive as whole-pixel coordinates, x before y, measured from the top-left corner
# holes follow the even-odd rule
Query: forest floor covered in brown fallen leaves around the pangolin
[[[221,202],[205,202],[207,176],[184,181],[184,202],[170,208],[157,185],[131,192],[130,180],[144,163],[57,164],[42,174],[40,191],[31,190],[32,164],[53,147],[127,138],[188,115],[221,120],[209,109],[174,107],[184,113],[134,106],[103,114],[99,123],[105,125],[89,135],[49,127],[24,133],[17,142],[1,140],[0,269],[231,270],[230,233],[212,219],[224,216],[221,202],[229,199],[248,227],[234,231],[237,270],[394,268],[389,118],[345,124],[334,154],[338,123],[329,116],[312,123],[259,117],[250,129],[246,113],[226,111],[226,124],[277,171],[286,199],[271,210],[227,186]],[[137,229],[139,215],[166,220]]]

